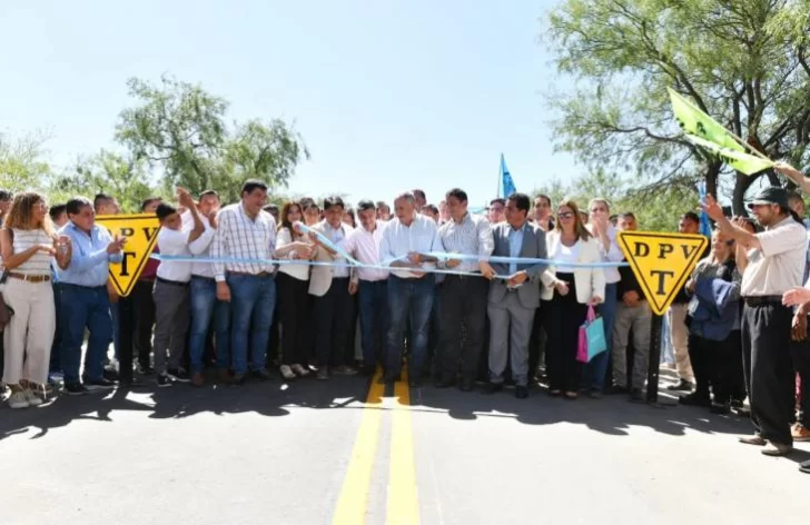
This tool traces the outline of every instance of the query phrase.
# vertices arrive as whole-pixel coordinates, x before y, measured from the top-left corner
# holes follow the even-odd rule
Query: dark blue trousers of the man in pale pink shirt
[[[358,294],[363,366],[376,366],[385,344],[388,283],[360,280]]]

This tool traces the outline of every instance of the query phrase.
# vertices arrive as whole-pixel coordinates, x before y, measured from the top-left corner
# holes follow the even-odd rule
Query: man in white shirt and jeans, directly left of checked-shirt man
[[[210,257],[209,248],[217,232],[217,212],[219,212],[219,195],[214,190],[204,191],[197,205],[205,231],[196,240],[189,242],[188,249],[195,257]],[[194,216],[182,216],[184,228],[191,228]],[[191,281],[189,284],[189,303],[191,307],[191,328],[188,338],[188,353],[191,365],[191,384],[202,386],[202,357],[208,339],[211,319],[216,333],[217,368],[220,378],[228,379],[229,363],[229,327],[230,309],[228,303],[217,300],[217,283],[214,280],[211,262],[192,262]]]

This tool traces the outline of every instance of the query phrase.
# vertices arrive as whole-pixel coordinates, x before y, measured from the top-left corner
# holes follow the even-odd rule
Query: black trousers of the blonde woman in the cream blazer
[[[587,305],[576,300],[573,274],[557,274],[556,277],[569,285],[569,293],[561,296],[554,290],[554,298],[541,306],[547,308],[545,330],[549,334],[549,344],[545,349],[545,364],[549,389],[579,392],[582,363],[576,360],[576,350],[580,327],[587,316]]]

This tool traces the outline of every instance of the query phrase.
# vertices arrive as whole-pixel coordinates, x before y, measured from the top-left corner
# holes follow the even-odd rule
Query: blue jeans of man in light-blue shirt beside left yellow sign
[[[83,378],[99,380],[103,377],[103,360],[112,338],[110,298],[107,287],[88,288],[68,284],[61,287],[61,328],[65,383],[79,383],[81,344],[85,328],[90,331],[85,356]]]

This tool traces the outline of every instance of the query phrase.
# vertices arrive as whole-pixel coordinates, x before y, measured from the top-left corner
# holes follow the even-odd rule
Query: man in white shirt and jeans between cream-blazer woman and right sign
[[[606,199],[595,198],[587,205],[590,212],[587,230],[599,241],[602,262],[621,262],[624,259],[619,242],[616,242],[616,228],[611,225],[611,208]],[[616,289],[622,279],[616,267],[605,267],[604,303],[599,305],[599,314],[604,324],[604,340],[608,351],[596,355],[586,367],[586,377],[590,383],[591,397],[601,397],[608,377],[608,363],[613,348],[613,324],[616,320]]]

